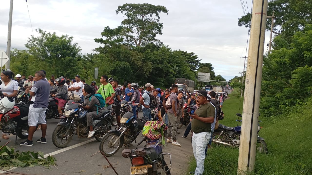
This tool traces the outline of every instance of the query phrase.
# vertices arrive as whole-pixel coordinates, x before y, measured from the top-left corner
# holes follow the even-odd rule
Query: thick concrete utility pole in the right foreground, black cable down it
[[[255,169],[261,75],[268,0],[254,0],[248,50],[238,175]]]

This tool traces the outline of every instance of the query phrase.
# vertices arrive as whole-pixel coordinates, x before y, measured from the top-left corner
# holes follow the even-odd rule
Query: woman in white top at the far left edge
[[[7,96],[7,97],[17,96],[18,83],[17,81],[12,79],[13,77],[14,77],[14,73],[9,70],[5,70],[1,73],[0,88],[4,96]],[[4,133],[2,133],[2,138],[9,139],[8,136]]]

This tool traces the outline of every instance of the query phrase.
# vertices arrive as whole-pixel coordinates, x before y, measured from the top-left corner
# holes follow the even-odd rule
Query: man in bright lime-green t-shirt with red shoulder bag
[[[112,105],[109,104],[110,101],[112,101],[112,99],[115,96],[115,91],[113,89],[113,86],[107,82],[108,77],[107,75],[102,75],[101,79],[100,79],[100,83],[102,83],[102,85],[100,86],[99,90],[95,93],[99,93],[102,95],[102,97],[105,99],[105,107],[107,107],[107,109],[112,109]],[[108,98],[110,97],[110,98]]]

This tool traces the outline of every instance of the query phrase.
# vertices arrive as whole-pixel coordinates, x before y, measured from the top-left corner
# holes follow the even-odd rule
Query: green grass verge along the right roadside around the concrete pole
[[[235,92],[234,92],[235,93]],[[240,99],[230,94],[223,103],[225,117],[221,124],[236,126],[235,116],[239,112]],[[241,99],[241,110],[242,111]],[[256,154],[255,171],[252,175],[301,175],[312,174],[312,98],[303,106],[291,112],[268,118],[260,116],[263,137],[269,149],[268,154]],[[240,125],[240,123],[238,123]],[[237,148],[215,146],[208,150],[204,175],[235,175],[238,163]],[[194,171],[196,162],[190,160],[189,170]],[[188,173],[187,173],[188,174]]]

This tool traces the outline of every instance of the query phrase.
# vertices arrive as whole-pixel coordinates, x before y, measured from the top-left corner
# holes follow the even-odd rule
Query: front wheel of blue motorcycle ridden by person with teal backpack
[[[66,126],[56,126],[56,128],[54,129],[52,133],[52,142],[57,148],[64,148],[71,142],[74,130],[73,128],[70,128],[68,136],[65,135],[66,130]]]

